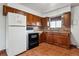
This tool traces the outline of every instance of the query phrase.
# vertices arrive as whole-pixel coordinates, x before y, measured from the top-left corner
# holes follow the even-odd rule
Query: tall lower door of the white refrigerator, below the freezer
[[[27,50],[26,27],[8,27],[6,36],[6,51],[10,56]],[[26,46],[27,45],[27,46]]]

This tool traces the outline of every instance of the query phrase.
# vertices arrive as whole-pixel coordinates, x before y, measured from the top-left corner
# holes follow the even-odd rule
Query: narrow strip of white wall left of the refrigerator
[[[3,16],[3,4],[0,4],[0,50],[5,49],[5,16]]]

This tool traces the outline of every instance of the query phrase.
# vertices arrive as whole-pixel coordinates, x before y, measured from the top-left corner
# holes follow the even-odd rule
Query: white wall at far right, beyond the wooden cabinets
[[[77,45],[79,47],[79,6],[72,7],[72,26],[71,26],[71,41],[72,44]]]

